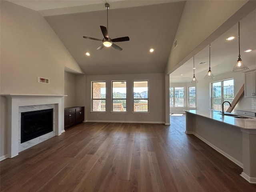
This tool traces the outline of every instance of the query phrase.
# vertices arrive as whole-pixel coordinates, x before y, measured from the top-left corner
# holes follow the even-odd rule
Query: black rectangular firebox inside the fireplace
[[[21,113],[21,143],[53,131],[53,109]]]

